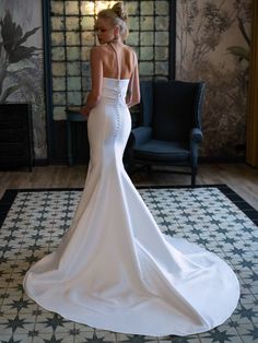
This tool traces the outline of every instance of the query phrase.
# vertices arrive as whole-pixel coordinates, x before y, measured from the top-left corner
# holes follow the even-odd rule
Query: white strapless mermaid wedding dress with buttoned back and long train
[[[131,184],[122,165],[128,84],[104,78],[89,118],[91,162],[72,225],[59,248],[27,271],[24,287],[44,308],[95,328],[203,332],[231,316],[239,284],[212,252],[163,235]]]

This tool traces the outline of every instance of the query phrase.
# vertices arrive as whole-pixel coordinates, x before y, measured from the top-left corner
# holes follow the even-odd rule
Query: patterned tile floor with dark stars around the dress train
[[[95,330],[46,311],[27,298],[22,280],[58,246],[81,190],[10,190],[0,202],[0,342],[258,342],[257,211],[226,186],[139,191],[164,233],[203,246],[232,265],[242,285],[232,317],[202,334],[157,339]]]

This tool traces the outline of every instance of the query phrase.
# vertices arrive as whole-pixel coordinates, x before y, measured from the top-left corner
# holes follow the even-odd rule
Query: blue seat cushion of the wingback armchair
[[[139,159],[167,161],[169,163],[189,158],[187,142],[151,140],[139,144],[133,152],[134,157]]]

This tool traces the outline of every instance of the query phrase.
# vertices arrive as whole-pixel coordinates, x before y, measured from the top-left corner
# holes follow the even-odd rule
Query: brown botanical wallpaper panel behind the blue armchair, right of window
[[[202,156],[245,155],[250,3],[177,1],[176,79],[207,83]]]

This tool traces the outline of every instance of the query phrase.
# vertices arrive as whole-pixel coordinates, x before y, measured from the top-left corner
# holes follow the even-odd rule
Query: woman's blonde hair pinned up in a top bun
[[[121,1],[115,3],[113,8],[98,12],[97,17],[108,19],[112,21],[114,26],[118,25],[120,36],[122,39],[126,39],[129,34],[129,29],[127,27],[127,12]]]

